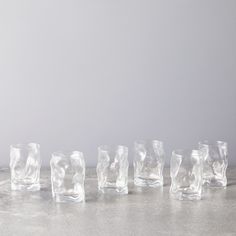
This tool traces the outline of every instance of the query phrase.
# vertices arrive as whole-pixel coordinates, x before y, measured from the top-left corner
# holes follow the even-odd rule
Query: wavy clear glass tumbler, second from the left
[[[85,200],[85,160],[82,152],[55,152],[50,161],[52,196],[56,202]]]

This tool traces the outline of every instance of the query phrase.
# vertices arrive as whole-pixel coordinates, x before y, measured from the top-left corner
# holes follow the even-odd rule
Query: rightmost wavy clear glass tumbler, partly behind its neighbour
[[[199,142],[203,152],[203,185],[225,187],[227,185],[226,169],[228,166],[228,147],[226,142]]]

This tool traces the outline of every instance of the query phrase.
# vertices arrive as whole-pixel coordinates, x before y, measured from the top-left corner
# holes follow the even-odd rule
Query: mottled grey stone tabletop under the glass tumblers
[[[130,171],[129,194],[100,195],[95,169],[86,173],[86,202],[56,204],[50,171],[42,170],[42,189],[10,191],[9,170],[0,170],[0,236],[11,235],[236,235],[236,168],[226,189],[207,189],[198,202],[169,197],[169,170],[161,189],[137,188]]]

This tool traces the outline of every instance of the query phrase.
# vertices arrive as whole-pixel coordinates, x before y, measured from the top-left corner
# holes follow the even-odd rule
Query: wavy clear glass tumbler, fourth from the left
[[[163,186],[165,152],[158,140],[134,143],[134,184],[137,186]]]

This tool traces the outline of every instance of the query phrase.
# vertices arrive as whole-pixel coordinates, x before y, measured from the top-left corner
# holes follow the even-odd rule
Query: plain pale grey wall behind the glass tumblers
[[[0,112],[0,165],[147,138],[168,160],[225,140],[236,164],[236,1],[0,0]]]

